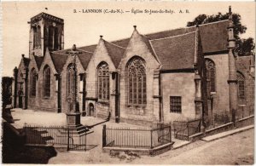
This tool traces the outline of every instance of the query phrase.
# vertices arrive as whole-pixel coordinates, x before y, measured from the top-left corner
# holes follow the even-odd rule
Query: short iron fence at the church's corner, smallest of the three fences
[[[190,135],[195,135],[201,132],[201,119],[192,121],[174,121],[174,137],[180,140],[189,140]]]

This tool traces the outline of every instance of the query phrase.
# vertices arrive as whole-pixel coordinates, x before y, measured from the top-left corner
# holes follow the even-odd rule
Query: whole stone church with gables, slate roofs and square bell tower
[[[64,20],[30,21],[29,58],[15,67],[13,106],[66,113],[73,79]],[[231,18],[76,48],[81,116],[151,125],[254,110],[254,60],[236,57]]]

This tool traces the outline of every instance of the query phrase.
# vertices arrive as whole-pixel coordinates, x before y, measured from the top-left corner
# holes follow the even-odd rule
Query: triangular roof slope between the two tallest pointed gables
[[[106,49],[108,50],[108,54],[113,61],[113,65],[115,67],[119,66],[119,62],[123,58],[123,55],[125,53],[125,48],[122,48],[118,45],[115,45],[113,43],[108,43],[107,41],[103,40],[104,45]]]

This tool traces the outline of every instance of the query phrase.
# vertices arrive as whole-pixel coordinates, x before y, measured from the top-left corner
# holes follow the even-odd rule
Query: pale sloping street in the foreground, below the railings
[[[156,157],[131,156],[124,152],[110,157],[100,148],[88,152],[58,152],[49,163],[253,164],[253,135],[254,129],[249,129],[211,142],[198,140]]]

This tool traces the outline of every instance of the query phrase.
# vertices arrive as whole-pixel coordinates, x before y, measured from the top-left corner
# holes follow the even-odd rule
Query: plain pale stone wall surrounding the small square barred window
[[[164,122],[195,118],[195,73],[161,73]],[[170,96],[182,97],[182,113],[170,111]]]

